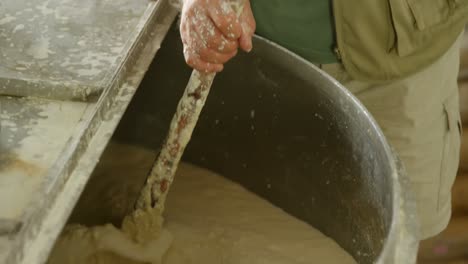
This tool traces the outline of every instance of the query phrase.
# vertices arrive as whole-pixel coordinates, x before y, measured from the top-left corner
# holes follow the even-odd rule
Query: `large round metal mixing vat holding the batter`
[[[184,159],[310,223],[359,263],[414,263],[414,204],[376,122],[312,64],[259,37],[254,47],[216,77]],[[157,153],[190,72],[173,29],[114,140]],[[124,179],[93,177],[71,221],[119,224],[151,162],[144,166]],[[121,196],[107,200],[103,192],[109,185]]]

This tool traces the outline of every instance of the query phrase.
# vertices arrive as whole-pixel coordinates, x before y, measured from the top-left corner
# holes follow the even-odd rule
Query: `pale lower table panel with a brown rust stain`
[[[25,221],[43,186],[57,180],[48,168],[90,106],[16,97],[1,97],[0,106],[0,200],[8,201],[0,203],[0,219]]]

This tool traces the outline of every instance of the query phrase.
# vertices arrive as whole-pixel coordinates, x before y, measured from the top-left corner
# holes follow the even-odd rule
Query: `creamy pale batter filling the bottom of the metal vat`
[[[49,263],[356,263],[308,224],[240,185],[189,164],[179,167],[164,215],[164,223],[150,217],[151,225],[137,227],[157,237],[145,245],[133,242],[137,231],[129,228],[131,224],[124,225],[124,232],[111,225],[69,226]],[[149,226],[152,230],[146,230]]]

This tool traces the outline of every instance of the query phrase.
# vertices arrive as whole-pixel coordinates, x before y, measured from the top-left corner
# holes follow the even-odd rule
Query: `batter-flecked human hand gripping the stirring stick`
[[[255,20],[250,1],[244,0],[239,17],[232,0],[184,0],[180,34],[185,61],[203,72],[220,72],[240,47],[249,52]]]

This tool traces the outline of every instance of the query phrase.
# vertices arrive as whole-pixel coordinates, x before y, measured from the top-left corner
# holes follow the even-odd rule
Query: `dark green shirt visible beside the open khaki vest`
[[[334,63],[330,0],[251,0],[256,33],[317,63]]]

